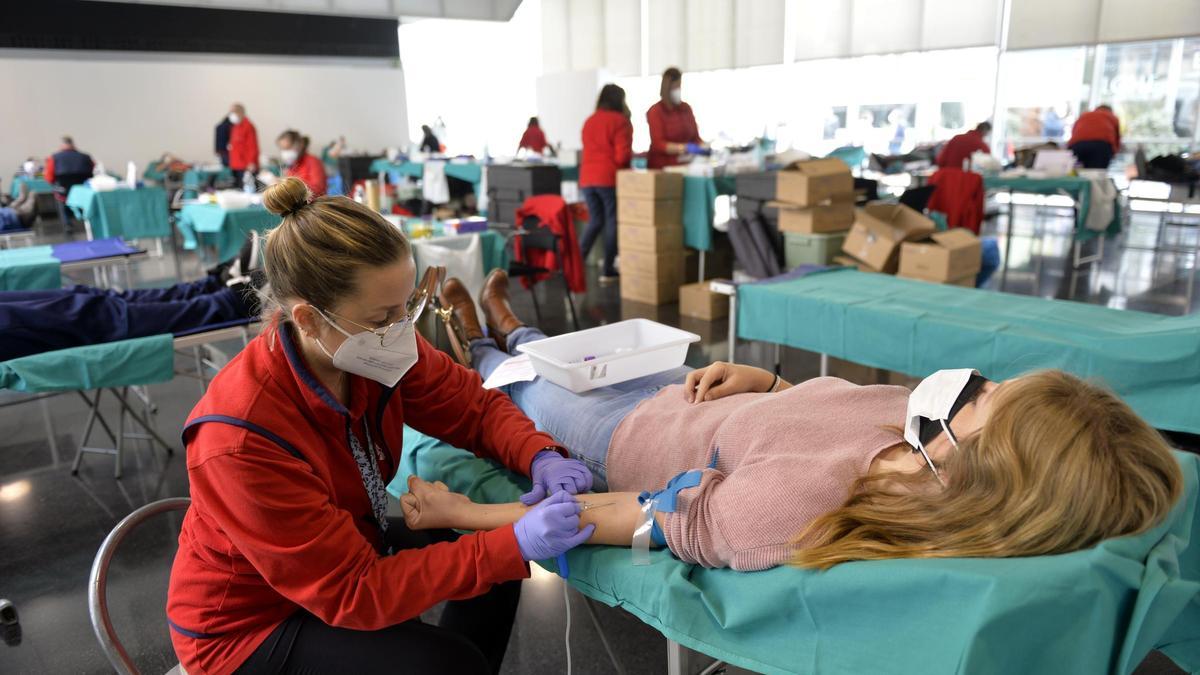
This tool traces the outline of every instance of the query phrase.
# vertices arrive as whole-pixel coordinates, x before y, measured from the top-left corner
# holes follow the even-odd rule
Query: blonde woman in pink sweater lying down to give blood
[[[446,289],[487,376],[545,335],[494,274],[475,304]],[[1144,532],[1183,491],[1159,434],[1111,392],[1044,370],[991,382],[937,371],[910,392],[836,377],[679,368],[586,395],[538,378],[505,388],[593,471],[592,544],[629,546],[653,500],[652,545],[684,562],[757,571],[854,560],[1054,555]],[[664,442],[664,440],[668,440]],[[647,452],[655,448],[655,452]],[[476,504],[418,478],[410,527],[491,528],[524,504]]]

